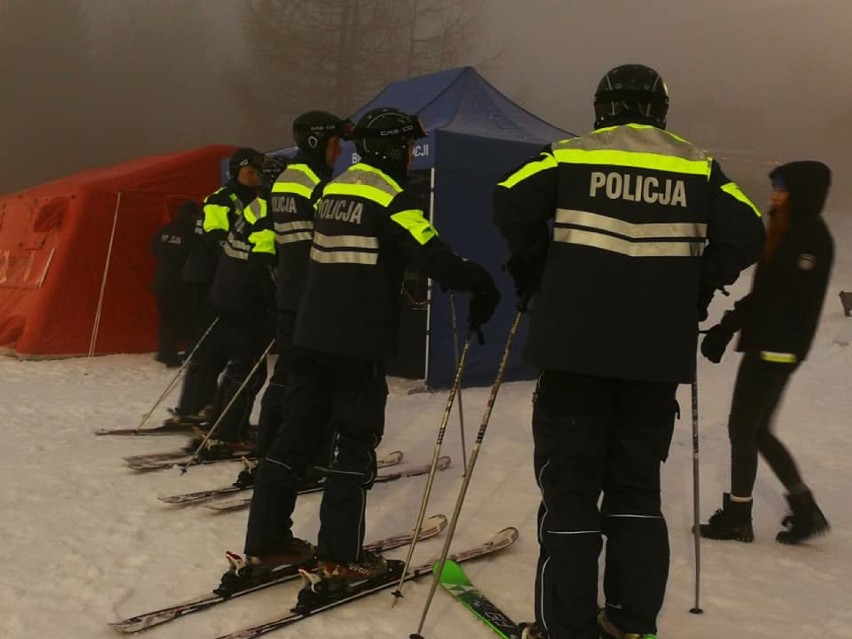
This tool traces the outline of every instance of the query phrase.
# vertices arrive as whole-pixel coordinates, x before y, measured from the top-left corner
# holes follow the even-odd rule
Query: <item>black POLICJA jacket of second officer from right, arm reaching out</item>
[[[331,180],[317,203],[294,345],[382,361],[397,347],[407,266],[446,289],[492,290],[488,273],[438,238],[404,171],[362,161]]]

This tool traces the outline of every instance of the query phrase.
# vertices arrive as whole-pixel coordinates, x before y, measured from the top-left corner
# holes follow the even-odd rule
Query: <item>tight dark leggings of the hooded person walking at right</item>
[[[757,352],[740,361],[728,419],[731,493],[737,497],[750,497],[754,490],[758,452],[788,492],[802,483],[793,457],[772,434],[772,418],[796,368],[798,364],[764,361]]]

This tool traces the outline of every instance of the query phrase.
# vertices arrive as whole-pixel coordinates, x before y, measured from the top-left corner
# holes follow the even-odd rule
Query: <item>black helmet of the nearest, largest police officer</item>
[[[619,116],[666,128],[669,90],[663,78],[643,64],[622,64],[607,72],[595,91],[595,128],[608,126]]]

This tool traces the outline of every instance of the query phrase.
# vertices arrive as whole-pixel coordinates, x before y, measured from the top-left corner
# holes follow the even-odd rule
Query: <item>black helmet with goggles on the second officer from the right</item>
[[[426,137],[426,131],[417,116],[382,107],[365,113],[358,120],[352,137],[362,158],[405,166],[408,141]]]

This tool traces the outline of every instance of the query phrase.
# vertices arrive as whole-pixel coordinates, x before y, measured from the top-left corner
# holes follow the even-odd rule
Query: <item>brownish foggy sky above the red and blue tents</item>
[[[623,62],[641,62],[656,67],[668,83],[670,128],[721,157],[759,205],[766,202],[765,174],[772,162],[816,158],[836,174],[845,171],[844,150],[852,141],[848,0],[723,0],[700,7],[677,0],[526,5],[509,0],[0,0],[0,77],[6,83],[0,101],[5,123],[0,193],[209,143],[280,148],[290,141],[282,119],[297,87],[295,80],[276,85],[280,73],[264,71],[252,25],[259,18],[287,24],[295,11],[342,12],[355,5],[362,14],[374,11],[371,29],[397,25],[403,44],[411,34],[419,38],[406,49],[407,65],[374,56],[372,66],[350,69],[350,75],[360,74],[359,86],[400,79],[387,77],[390,73],[470,64],[555,126],[584,131],[591,125],[591,96],[601,75]],[[257,7],[266,13],[258,16]],[[383,25],[390,7],[396,22]],[[421,31],[449,25],[449,16],[462,10],[470,37],[434,40],[435,46],[452,45],[443,57],[434,57],[435,46],[421,42]],[[407,11],[417,17],[416,24],[405,22]],[[434,29],[430,33],[433,37]],[[367,36],[355,33],[352,42],[369,42]],[[283,69],[287,60],[300,61],[300,77],[330,68],[322,51],[289,41],[278,53],[261,52],[281,56],[272,69]],[[355,56],[365,46],[358,45],[355,53],[338,47],[336,54]],[[428,56],[433,57],[427,65]],[[326,92],[313,103],[310,86],[300,85],[299,104],[329,108],[328,103],[346,105],[359,97],[352,86],[339,86],[347,96]],[[835,181],[835,204],[849,196],[842,182]]]

